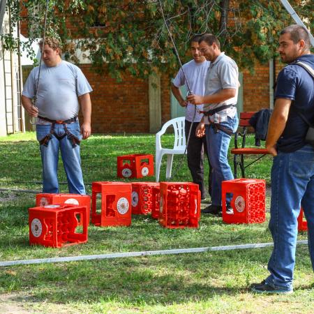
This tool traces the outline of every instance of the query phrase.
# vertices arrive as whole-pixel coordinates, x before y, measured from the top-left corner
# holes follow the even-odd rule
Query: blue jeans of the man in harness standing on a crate
[[[68,128],[68,132],[77,139],[82,140],[80,134],[80,124],[78,121],[72,124],[55,124],[54,132],[61,137],[66,133],[64,126]],[[37,140],[43,140],[46,135],[49,135],[51,124],[36,125]],[[68,179],[69,193],[85,194],[84,181],[81,169],[80,145],[73,147],[68,135],[58,140],[52,135],[47,142],[47,146],[40,144],[41,161],[43,164],[43,193],[59,193],[58,183],[58,161],[59,150],[63,161],[66,178]]]

